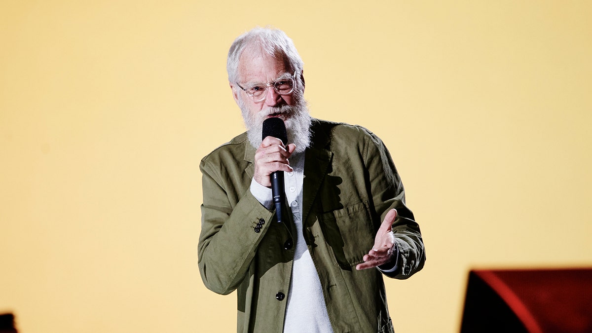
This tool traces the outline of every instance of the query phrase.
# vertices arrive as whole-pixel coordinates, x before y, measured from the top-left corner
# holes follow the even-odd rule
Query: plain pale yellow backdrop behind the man
[[[592,265],[592,2],[0,0],[0,312],[24,333],[231,332],[197,268],[226,79],[292,37],[311,113],[389,147],[427,246],[397,332],[456,332],[468,270]],[[240,239],[237,239],[240,241]]]

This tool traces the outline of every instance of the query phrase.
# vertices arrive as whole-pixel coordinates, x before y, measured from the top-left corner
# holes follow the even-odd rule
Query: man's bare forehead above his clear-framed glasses
[[[284,56],[272,56],[262,49],[246,49],[239,58],[239,79],[242,82],[271,82],[289,72]]]

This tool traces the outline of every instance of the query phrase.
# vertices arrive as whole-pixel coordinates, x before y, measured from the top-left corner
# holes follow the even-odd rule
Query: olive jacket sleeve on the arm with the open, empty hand
[[[373,203],[371,206],[375,209],[374,213],[379,216],[378,223],[384,220],[390,209],[397,209],[397,219],[392,223],[392,232],[399,252],[398,269],[383,274],[405,279],[420,271],[426,261],[422,233],[413,213],[405,204],[403,182],[388,149],[382,140],[372,133],[366,147],[366,165]]]

